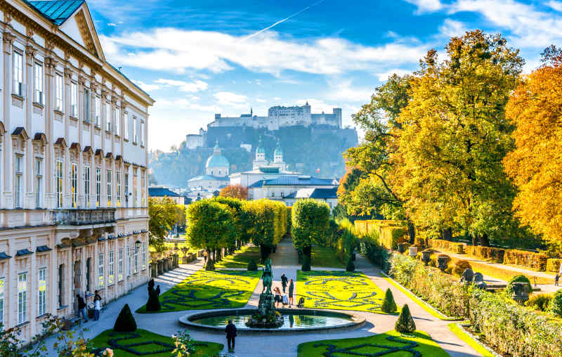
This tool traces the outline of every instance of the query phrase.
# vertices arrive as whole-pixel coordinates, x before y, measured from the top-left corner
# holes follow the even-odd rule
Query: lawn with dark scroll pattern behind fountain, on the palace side
[[[159,312],[237,309],[247,304],[261,271],[197,271],[160,295]],[[138,313],[146,313],[145,306]]]

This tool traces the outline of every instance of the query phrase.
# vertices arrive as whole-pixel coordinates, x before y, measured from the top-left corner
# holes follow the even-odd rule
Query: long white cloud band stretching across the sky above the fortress
[[[416,63],[429,46],[396,40],[380,46],[362,46],[340,38],[314,41],[282,39],[264,32],[240,42],[241,37],[210,31],[159,28],[112,37],[101,36],[112,63],[150,70],[185,72],[188,69],[224,72],[235,63],[249,70],[280,76],[283,70],[339,74],[373,70],[380,65]]]

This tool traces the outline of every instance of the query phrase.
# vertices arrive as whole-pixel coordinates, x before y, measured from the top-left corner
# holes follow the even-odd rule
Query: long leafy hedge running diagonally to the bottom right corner
[[[562,324],[476,287],[464,287],[419,262],[393,254],[391,275],[449,316],[468,318],[477,334],[513,357],[562,356]]]

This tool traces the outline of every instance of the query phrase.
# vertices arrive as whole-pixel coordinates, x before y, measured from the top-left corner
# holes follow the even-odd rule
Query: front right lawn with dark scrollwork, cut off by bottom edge
[[[422,331],[413,335],[400,335],[388,331],[380,335],[359,337],[356,339],[325,339],[299,344],[298,357],[344,357],[375,356],[375,353],[396,348],[396,352],[387,353],[388,357],[412,357],[418,351],[424,357],[448,357],[449,353]]]

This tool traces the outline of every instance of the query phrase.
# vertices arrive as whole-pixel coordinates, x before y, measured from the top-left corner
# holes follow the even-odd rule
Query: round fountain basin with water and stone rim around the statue
[[[277,309],[284,316],[281,327],[247,327],[246,320],[256,309],[228,309],[188,313],[179,322],[197,330],[224,333],[228,320],[233,320],[238,334],[292,334],[306,332],[333,332],[334,330],[353,330],[365,325],[365,318],[353,313],[316,309]]]

